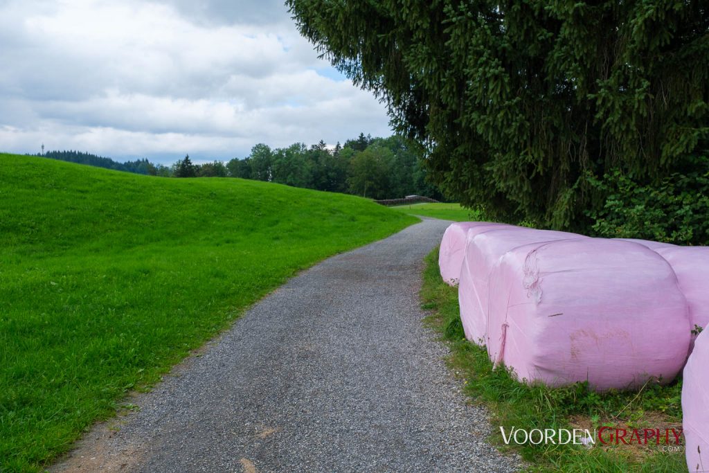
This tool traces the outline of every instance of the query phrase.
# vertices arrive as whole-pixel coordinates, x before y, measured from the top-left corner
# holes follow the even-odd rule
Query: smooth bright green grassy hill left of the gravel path
[[[415,218],[0,154],[0,471],[35,471],[288,277]]]

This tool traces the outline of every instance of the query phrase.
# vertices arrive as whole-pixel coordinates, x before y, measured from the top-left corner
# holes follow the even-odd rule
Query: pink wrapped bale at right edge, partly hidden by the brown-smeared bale
[[[695,332],[695,325],[706,328],[709,325],[709,247],[671,245],[657,248],[655,251],[669,262],[677,275],[679,289],[689,306],[691,328]],[[692,347],[693,340],[690,351]]]

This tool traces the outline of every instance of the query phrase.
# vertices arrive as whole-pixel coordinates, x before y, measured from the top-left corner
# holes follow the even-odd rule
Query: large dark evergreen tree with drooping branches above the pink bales
[[[493,217],[585,228],[594,174],[659,182],[707,147],[706,1],[286,4],[440,187]]]

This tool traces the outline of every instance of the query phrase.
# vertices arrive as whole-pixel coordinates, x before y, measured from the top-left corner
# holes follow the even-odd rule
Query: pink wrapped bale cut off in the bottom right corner
[[[684,367],[682,428],[690,472],[709,471],[709,333],[700,333]]]

